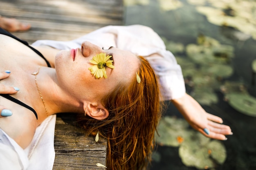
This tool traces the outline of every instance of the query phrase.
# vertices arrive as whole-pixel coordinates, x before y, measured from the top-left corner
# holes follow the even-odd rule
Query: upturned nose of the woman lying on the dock
[[[82,43],[81,51],[82,51],[83,56],[85,56],[85,57],[89,57],[91,55],[102,53],[102,49],[99,46],[92,44],[88,41],[85,41]]]

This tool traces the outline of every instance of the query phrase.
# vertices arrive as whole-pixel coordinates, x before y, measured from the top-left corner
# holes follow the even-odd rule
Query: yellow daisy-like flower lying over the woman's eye
[[[94,75],[96,78],[101,78],[103,76],[107,78],[105,66],[108,66],[109,68],[112,68],[112,69],[115,68],[115,66],[113,66],[112,64],[113,60],[108,60],[110,59],[110,57],[112,56],[111,55],[106,56],[106,53],[100,53],[92,57],[92,60],[90,60],[90,63],[95,65],[88,68],[91,71],[92,75]]]

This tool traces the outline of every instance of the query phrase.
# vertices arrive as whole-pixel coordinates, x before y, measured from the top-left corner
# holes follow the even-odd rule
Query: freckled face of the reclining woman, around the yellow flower
[[[106,68],[108,78],[96,79],[88,69],[93,64],[89,60],[99,53],[112,55],[115,68]],[[139,68],[138,57],[130,51],[114,47],[101,49],[90,42],[83,42],[81,49],[60,51],[55,58],[55,68],[59,86],[75,97],[99,97],[115,88],[117,83],[128,83],[136,76]]]

